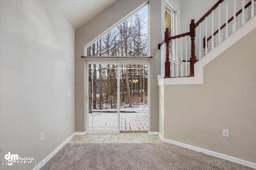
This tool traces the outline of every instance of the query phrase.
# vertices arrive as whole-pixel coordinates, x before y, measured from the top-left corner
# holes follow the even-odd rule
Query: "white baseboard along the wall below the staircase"
[[[228,156],[228,155],[225,155],[225,154],[221,154],[221,153],[218,153],[218,152],[214,152],[214,151],[211,151],[211,150],[194,147],[192,145],[187,145],[187,144],[172,141],[172,140],[169,140],[169,139],[164,139],[160,133],[158,133],[158,136],[162,139],[162,141],[164,141],[166,143],[171,143],[171,144],[174,144],[174,145],[178,145],[180,147],[192,149],[192,150],[195,150],[195,151],[198,151],[198,152],[203,152],[205,154],[209,154],[209,155],[212,155],[212,156],[215,156],[215,157],[218,157],[218,158],[229,160],[231,162],[235,162],[237,164],[241,164],[241,165],[248,166],[250,168],[256,169],[256,163],[249,162],[249,161],[246,161],[246,160],[242,160],[242,159],[239,159],[239,158],[235,158],[235,157],[232,157],[232,156]]]

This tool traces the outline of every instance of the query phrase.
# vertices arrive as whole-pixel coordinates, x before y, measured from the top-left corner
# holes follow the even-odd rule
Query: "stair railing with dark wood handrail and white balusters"
[[[226,3],[223,3],[223,2]],[[228,2],[230,0],[218,0],[200,20],[198,20],[195,23],[195,20],[191,20],[190,23],[190,31],[187,33],[183,33],[180,35],[172,36],[170,37],[169,29],[166,28],[166,31],[164,33],[164,41],[162,43],[158,44],[158,49],[161,49],[161,78],[170,78],[170,77],[183,77],[183,76],[194,76],[194,64],[196,61],[200,60],[204,55],[206,55],[210,50],[212,50],[214,47],[216,47],[219,43],[223,41],[223,39],[227,38],[229,36],[230,29],[228,27],[228,23],[232,22],[232,33],[238,29],[241,25],[243,25],[246,21],[248,21],[250,18],[254,16],[254,1],[250,0],[245,5],[245,0],[242,0],[242,9],[240,9],[238,12],[236,12],[236,5],[238,2],[236,0],[231,1],[233,2],[233,16],[228,19]],[[241,1],[239,1],[240,3]],[[221,26],[221,6],[225,6],[225,17],[222,19],[225,19],[225,23]],[[249,8],[251,6],[251,8]],[[214,32],[214,10],[218,8],[218,11],[215,11],[218,13],[218,24],[215,24],[215,26],[218,26],[218,29]],[[250,15],[249,15],[250,10]],[[241,15],[240,15],[241,14]],[[247,15],[247,16],[246,16]],[[207,37],[207,20],[208,17],[211,16],[211,35]],[[240,18],[241,16],[241,18]],[[235,20],[234,20],[235,18]],[[238,24],[236,23],[238,21]],[[203,23],[204,22],[204,23]],[[240,24],[241,22],[241,24]],[[203,23],[203,24],[202,24]],[[199,29],[196,29],[196,27],[199,27]],[[223,28],[225,29],[225,36],[223,36]],[[201,39],[202,35],[202,28],[205,29],[205,35],[204,38]],[[199,33],[199,39],[198,39],[198,47],[196,49],[195,45],[195,37],[196,32]],[[190,42],[187,41],[188,35],[190,36]],[[215,36],[218,35],[218,36]],[[214,41],[214,36],[216,38],[216,41]],[[205,38],[207,37],[207,39]],[[213,37],[213,38],[212,38]],[[224,37],[224,38],[223,38]],[[203,40],[203,44],[202,44]],[[211,41],[210,41],[211,40]],[[208,41],[210,41],[210,46],[208,46]],[[190,59],[188,60],[188,45],[190,43]],[[169,46],[172,46],[172,50],[170,53]],[[183,48],[185,46],[185,49]],[[204,53],[202,53],[201,49],[204,49]],[[196,50],[198,51],[198,60],[196,59]],[[171,57],[171,60],[170,60]],[[164,61],[165,58],[165,61]],[[185,58],[185,60],[184,60]],[[163,76],[164,74],[164,76]]]

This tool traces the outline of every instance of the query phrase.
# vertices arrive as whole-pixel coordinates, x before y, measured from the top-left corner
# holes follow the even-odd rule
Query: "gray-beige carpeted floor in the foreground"
[[[40,170],[252,170],[169,143],[66,144]]]

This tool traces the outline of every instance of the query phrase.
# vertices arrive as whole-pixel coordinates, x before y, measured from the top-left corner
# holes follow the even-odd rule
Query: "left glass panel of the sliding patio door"
[[[117,64],[88,64],[89,131],[118,131]]]

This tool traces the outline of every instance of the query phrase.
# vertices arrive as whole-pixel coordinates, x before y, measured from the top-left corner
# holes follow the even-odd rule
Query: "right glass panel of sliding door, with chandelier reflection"
[[[147,64],[120,64],[120,131],[148,131]]]

